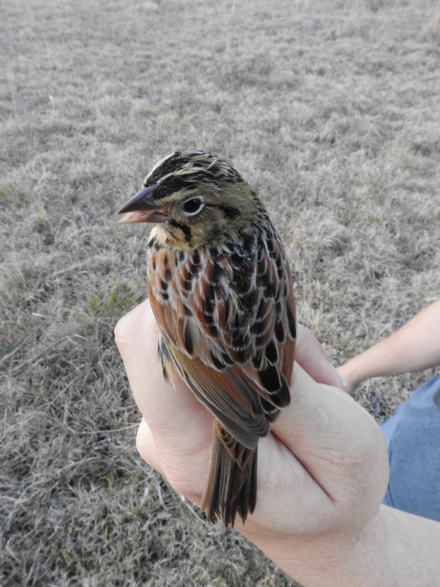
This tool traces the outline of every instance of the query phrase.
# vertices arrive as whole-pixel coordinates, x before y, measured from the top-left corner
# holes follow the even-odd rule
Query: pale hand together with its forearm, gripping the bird
[[[115,338],[142,414],[139,453],[199,504],[211,414],[184,384],[164,382],[148,301],[121,319]],[[440,524],[381,505],[388,456],[379,427],[341,392],[304,328],[296,360],[292,402],[259,443],[255,512],[235,528],[306,587],[438,585]]]

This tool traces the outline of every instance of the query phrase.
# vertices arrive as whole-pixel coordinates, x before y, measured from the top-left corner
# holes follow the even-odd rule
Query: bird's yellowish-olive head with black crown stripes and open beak
[[[265,210],[238,171],[204,151],[172,153],[118,212],[122,224],[155,222],[178,248],[218,244],[250,230]]]

